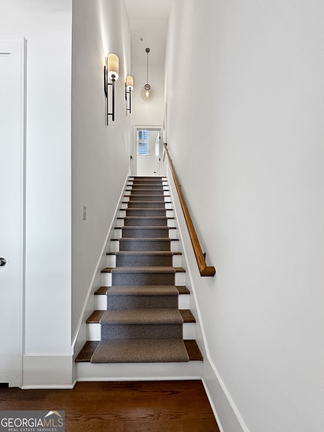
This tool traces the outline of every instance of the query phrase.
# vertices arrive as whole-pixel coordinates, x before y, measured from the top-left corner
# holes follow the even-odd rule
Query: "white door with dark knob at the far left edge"
[[[0,382],[21,386],[24,284],[23,39],[0,38],[0,209],[0,258],[3,258],[0,259]]]

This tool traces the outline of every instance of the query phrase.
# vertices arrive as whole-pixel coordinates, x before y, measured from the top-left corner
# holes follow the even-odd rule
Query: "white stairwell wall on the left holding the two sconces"
[[[115,121],[106,126],[103,68],[119,57]],[[131,74],[130,28],[124,0],[73,1],[72,32],[72,339],[128,175],[130,116],[125,80]],[[109,111],[111,112],[111,87]],[[83,206],[87,220],[83,220]]]

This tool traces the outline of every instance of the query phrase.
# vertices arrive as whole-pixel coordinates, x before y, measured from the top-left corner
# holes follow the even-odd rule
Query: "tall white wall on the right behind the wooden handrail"
[[[175,0],[169,22],[168,143],[217,270],[190,262],[207,360],[250,432],[323,425],[323,16],[319,0]]]

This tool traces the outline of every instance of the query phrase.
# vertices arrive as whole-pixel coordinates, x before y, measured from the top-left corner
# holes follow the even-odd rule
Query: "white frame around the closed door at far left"
[[[24,37],[0,37],[1,44],[20,44],[20,142],[19,142],[19,287],[16,292],[15,304],[11,307],[18,320],[17,337],[17,367],[15,379],[9,382],[10,386],[22,387],[23,376],[23,350],[24,350],[24,295],[25,295],[25,231],[26,231],[26,82],[27,82],[27,41]],[[1,49],[0,49],[1,51]],[[10,261],[8,262],[10,265]]]

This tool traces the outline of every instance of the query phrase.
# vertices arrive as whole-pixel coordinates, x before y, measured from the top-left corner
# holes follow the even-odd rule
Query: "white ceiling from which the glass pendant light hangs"
[[[164,66],[172,0],[125,0],[131,27],[132,66]]]

